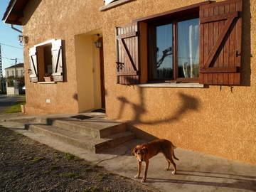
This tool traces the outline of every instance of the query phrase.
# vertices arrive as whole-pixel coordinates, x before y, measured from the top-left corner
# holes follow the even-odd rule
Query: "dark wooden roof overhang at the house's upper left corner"
[[[23,9],[28,1],[29,0],[10,0],[2,18],[4,23],[21,26],[23,20]]]

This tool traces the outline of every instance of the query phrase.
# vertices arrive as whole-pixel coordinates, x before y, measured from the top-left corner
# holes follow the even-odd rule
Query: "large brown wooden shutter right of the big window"
[[[200,6],[200,82],[240,85],[242,0]]]

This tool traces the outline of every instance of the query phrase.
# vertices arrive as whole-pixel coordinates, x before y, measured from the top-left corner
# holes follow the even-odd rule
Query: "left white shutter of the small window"
[[[36,47],[29,49],[29,77],[31,82],[38,82],[38,63]]]

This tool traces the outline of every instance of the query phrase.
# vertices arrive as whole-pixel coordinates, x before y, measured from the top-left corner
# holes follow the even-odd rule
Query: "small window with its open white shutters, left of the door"
[[[63,81],[63,41],[51,40],[29,49],[31,82]]]

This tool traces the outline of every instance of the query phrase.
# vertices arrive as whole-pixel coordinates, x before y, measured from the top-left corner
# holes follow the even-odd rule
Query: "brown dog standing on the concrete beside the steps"
[[[132,149],[132,155],[136,156],[138,161],[137,175],[134,178],[139,178],[142,171],[142,161],[145,161],[146,168],[142,178],[142,182],[145,182],[149,168],[149,159],[159,153],[163,153],[168,162],[166,170],[169,170],[170,164],[172,164],[174,166],[172,174],[176,174],[176,164],[174,163],[173,157],[176,160],[178,158],[174,155],[174,145],[166,139],[156,139],[146,144],[139,144]]]

